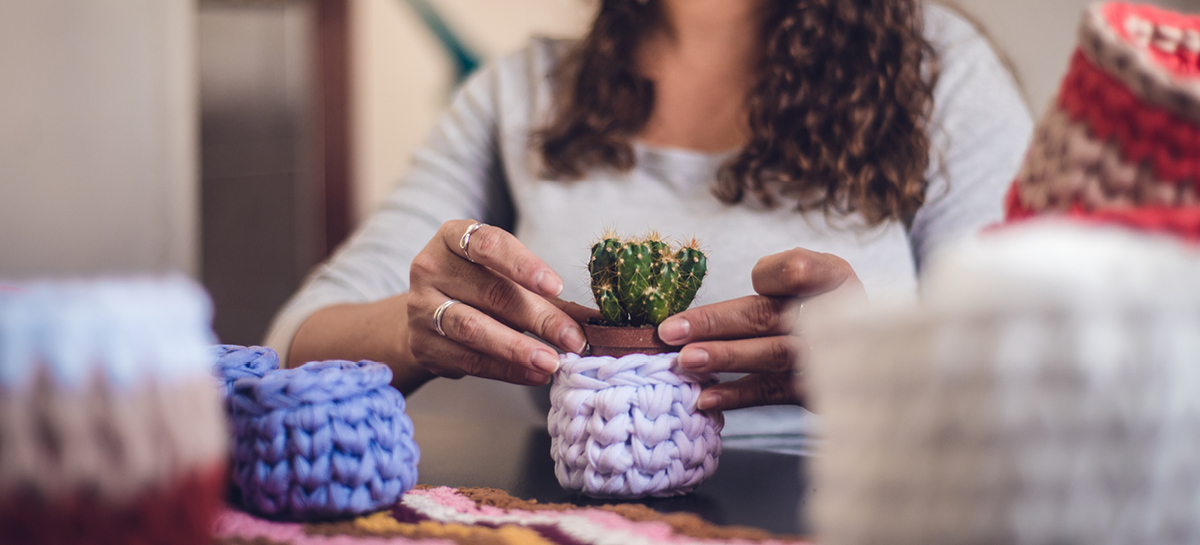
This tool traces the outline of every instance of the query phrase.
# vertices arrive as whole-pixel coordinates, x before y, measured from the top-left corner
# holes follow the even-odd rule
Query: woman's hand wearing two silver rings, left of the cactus
[[[558,299],[563,280],[504,229],[484,226],[460,246],[474,223],[443,223],[413,259],[407,301],[413,357],[440,377],[545,384],[558,370],[558,354],[522,331],[578,353],[586,343],[580,323],[598,312]],[[443,336],[434,313],[450,299],[461,304],[444,310]]]

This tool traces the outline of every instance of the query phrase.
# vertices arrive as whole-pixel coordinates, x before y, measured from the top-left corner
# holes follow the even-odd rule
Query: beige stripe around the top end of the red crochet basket
[[[1092,4],[1079,28],[1079,47],[1102,70],[1120,79],[1130,91],[1148,103],[1166,108],[1200,122],[1200,80],[1181,78],[1150,56],[1147,48],[1196,48],[1200,35],[1193,31],[1174,36],[1178,29],[1156,25],[1147,19],[1129,17],[1124,23],[1138,29],[1139,43],[1122,40],[1105,19],[1103,4]]]

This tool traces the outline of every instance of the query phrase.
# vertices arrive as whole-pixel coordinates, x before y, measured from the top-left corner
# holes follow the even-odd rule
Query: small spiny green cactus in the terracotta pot
[[[708,259],[692,239],[674,250],[656,233],[636,240],[606,234],[592,246],[592,294],[610,325],[658,325],[696,298]]]

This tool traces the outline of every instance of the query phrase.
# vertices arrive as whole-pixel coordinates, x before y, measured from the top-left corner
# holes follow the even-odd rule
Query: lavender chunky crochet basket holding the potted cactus
[[[678,353],[562,357],[551,387],[554,475],[594,497],[691,492],[721,455],[720,413],[696,411],[710,373],[684,371]]]

